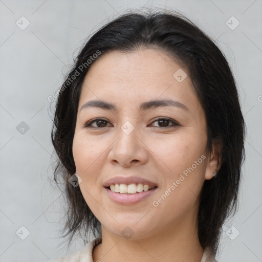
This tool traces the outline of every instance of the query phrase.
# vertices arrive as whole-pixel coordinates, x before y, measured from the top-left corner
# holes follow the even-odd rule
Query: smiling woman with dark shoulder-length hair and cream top
[[[197,26],[167,11],[108,23],[61,86],[52,132],[64,236],[94,239],[53,261],[216,261],[244,134],[228,62]]]

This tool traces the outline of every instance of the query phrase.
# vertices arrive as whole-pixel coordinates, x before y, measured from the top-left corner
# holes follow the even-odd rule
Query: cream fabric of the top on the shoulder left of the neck
[[[93,249],[101,243],[101,240],[102,237],[98,236],[89,242],[82,250],[45,262],[93,262]]]

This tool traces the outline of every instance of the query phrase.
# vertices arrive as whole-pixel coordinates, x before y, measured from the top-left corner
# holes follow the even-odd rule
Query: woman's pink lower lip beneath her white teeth
[[[110,199],[118,204],[136,204],[143,199],[149,197],[149,195],[153,194],[156,191],[157,187],[150,189],[148,191],[142,191],[139,193],[129,194],[129,193],[116,193],[111,191],[108,188],[105,188],[107,195]]]

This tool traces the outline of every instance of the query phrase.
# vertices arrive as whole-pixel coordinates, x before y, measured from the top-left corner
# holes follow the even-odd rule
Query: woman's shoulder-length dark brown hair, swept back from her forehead
[[[72,144],[83,79],[92,66],[90,57],[99,59],[111,51],[133,52],[141,48],[165,51],[186,65],[195,92],[205,112],[208,148],[219,140],[222,166],[217,176],[204,182],[198,212],[198,232],[202,247],[217,251],[222,226],[237,210],[241,166],[244,161],[245,122],[239,105],[236,83],[229,64],[215,43],[186,17],[171,11],[132,12],[121,15],[99,29],[82,47],[68,73],[56,103],[52,143],[58,156],[55,181],[62,179],[68,200],[63,236],[69,245],[76,232],[84,240],[88,232],[101,234],[101,224],[83,199],[79,187],[69,178],[76,166]],[[81,67],[82,64],[85,67]],[[79,70],[79,67],[81,70]],[[79,75],[73,80],[73,75]],[[70,82],[67,82],[69,81]]]

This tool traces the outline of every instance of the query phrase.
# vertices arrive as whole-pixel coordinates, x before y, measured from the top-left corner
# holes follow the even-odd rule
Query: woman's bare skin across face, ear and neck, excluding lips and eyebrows
[[[187,74],[182,82],[173,77],[178,69]],[[97,107],[80,111],[94,99],[113,103],[118,111]],[[176,100],[188,110],[162,106],[140,111],[141,103],[155,99]],[[84,127],[97,117],[107,122]],[[163,118],[179,125],[156,121]],[[126,121],[135,128],[129,135],[121,129]],[[163,51],[110,52],[93,62],[82,86],[73,141],[81,192],[102,225],[102,244],[94,249],[93,260],[201,261],[199,195],[204,181],[220,167],[217,150],[215,146],[212,152],[207,150],[205,114],[187,69]],[[158,207],[153,206],[202,155],[205,160]],[[117,175],[140,176],[158,188],[137,204],[117,204],[102,186]],[[121,234],[127,226],[134,232],[129,239]]]

